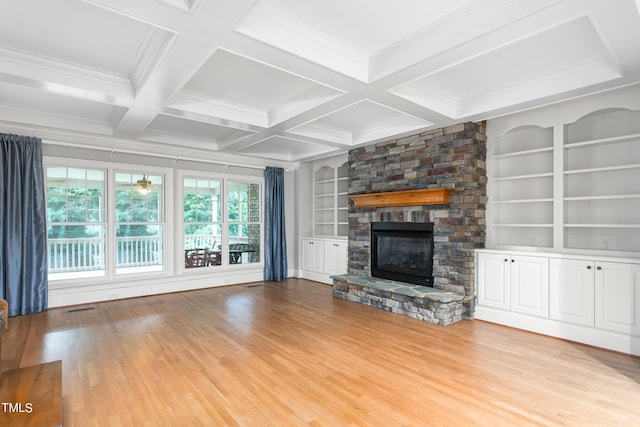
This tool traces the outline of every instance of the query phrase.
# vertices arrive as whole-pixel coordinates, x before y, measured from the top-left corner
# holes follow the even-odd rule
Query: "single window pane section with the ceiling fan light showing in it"
[[[116,274],[162,270],[162,177],[115,174]]]

